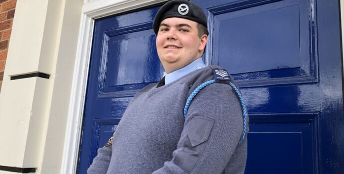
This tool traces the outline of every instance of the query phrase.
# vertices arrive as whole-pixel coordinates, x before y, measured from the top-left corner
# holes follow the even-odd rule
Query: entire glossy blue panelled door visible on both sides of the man
[[[191,0],[208,17],[208,64],[228,70],[250,115],[246,174],[344,174],[338,0]],[[128,103],[164,71],[159,7],[96,20],[79,174]]]

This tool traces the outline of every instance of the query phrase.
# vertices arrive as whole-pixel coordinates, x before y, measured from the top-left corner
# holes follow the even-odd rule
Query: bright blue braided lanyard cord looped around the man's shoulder
[[[207,82],[204,82],[203,84],[201,84],[200,86],[196,87],[189,95],[189,97],[187,97],[185,106],[184,106],[184,119],[186,119],[186,114],[187,114],[187,109],[193,99],[194,96],[196,96],[196,94],[203,88],[206,87],[207,85],[213,84],[215,83],[215,80],[210,80]],[[245,106],[245,102],[244,99],[242,98],[241,93],[239,92],[238,88],[235,87],[235,85],[232,82],[229,82],[229,85],[231,87],[233,87],[233,89],[235,90],[236,94],[239,97],[240,103],[241,103],[241,108],[242,108],[242,113],[243,113],[243,117],[244,117],[244,130],[242,132],[241,135],[241,139],[239,141],[239,144],[244,140],[245,135],[246,135],[246,117],[247,117],[247,112],[246,112],[246,106]]]

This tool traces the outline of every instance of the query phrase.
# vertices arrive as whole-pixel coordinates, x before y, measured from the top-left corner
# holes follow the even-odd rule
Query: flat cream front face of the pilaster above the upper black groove
[[[57,10],[59,6],[57,6]],[[17,1],[4,71],[4,80],[8,76],[39,71],[39,61],[43,60],[39,58],[41,57],[41,51],[44,51],[41,47],[47,10],[48,0]],[[54,38],[56,37],[53,36],[51,39]],[[50,60],[49,57],[45,59]],[[45,73],[50,72],[50,70],[40,71]]]

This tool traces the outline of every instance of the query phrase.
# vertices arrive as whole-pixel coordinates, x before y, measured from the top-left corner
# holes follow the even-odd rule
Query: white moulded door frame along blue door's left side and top
[[[142,8],[163,1],[167,0],[85,0],[80,19],[77,54],[73,72],[60,174],[75,174],[77,171],[94,19]]]

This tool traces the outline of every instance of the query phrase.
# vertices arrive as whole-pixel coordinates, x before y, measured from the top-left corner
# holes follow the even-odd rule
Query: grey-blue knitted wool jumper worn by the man
[[[138,92],[112,145],[98,150],[88,174],[243,174],[247,136],[239,144],[243,113],[231,86],[202,88],[183,116],[190,86],[210,71],[208,66]]]

